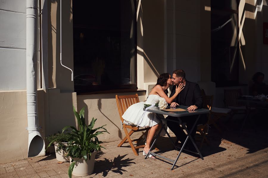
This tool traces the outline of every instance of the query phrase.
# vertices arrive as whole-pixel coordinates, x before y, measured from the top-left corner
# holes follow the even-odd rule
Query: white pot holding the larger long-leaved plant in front
[[[76,164],[74,165],[74,170],[72,175],[74,176],[88,176],[93,173],[94,171],[94,163],[95,163],[95,157],[96,157],[96,151],[91,153],[90,160],[85,161],[84,159],[74,158],[74,160],[78,160]],[[70,163],[71,163],[71,157],[70,157]]]

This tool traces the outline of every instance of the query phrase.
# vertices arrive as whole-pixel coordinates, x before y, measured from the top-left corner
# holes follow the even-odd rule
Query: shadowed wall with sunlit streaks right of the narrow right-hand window
[[[262,8],[258,8],[260,2],[245,0],[239,4],[241,22],[239,82],[244,84],[248,84],[253,74],[258,71],[266,75],[264,82],[268,83],[268,45],[263,44],[263,23],[268,22],[268,6],[264,0]]]

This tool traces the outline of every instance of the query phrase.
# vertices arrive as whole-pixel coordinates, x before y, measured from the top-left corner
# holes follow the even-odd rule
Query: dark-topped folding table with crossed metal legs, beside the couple
[[[181,154],[181,152],[182,152],[183,150],[186,150],[186,151],[188,151],[188,152],[192,152],[192,151],[190,151],[190,150],[184,149],[184,147],[185,147],[185,145],[186,145],[186,143],[187,143],[187,141],[188,141],[189,138],[190,138],[191,142],[194,144],[194,147],[195,147],[195,149],[196,149],[196,151],[197,151],[197,153],[196,153],[196,152],[192,152],[192,153],[198,154],[202,160],[204,159],[203,156],[202,156],[202,154],[200,153],[199,149],[197,148],[196,144],[194,143],[193,138],[191,137],[191,132],[193,132],[193,128],[194,128],[194,127],[192,127],[191,130],[189,131],[189,130],[187,129],[185,123],[183,123],[183,122],[181,121],[180,117],[191,116],[191,115],[197,115],[197,118],[196,118],[196,120],[195,120],[195,122],[194,122],[194,125],[196,125],[198,119],[200,118],[200,114],[208,114],[208,113],[210,112],[210,110],[208,110],[208,109],[197,109],[197,110],[194,110],[194,111],[189,111],[189,110],[187,110],[188,106],[178,106],[178,107],[176,107],[176,109],[177,109],[177,108],[181,108],[181,109],[184,109],[184,110],[186,110],[186,111],[163,111],[163,110],[160,110],[159,107],[151,107],[151,108],[147,109],[148,112],[152,112],[152,113],[157,113],[157,114],[163,114],[163,115],[169,115],[169,116],[177,117],[177,120],[171,120],[171,119],[166,119],[166,120],[168,120],[168,121],[172,121],[172,122],[177,122],[177,123],[179,123],[180,125],[182,125],[182,127],[178,128],[178,129],[185,129],[185,130],[186,130],[186,133],[187,133],[186,135],[187,135],[187,137],[186,137],[185,142],[183,143],[183,146],[180,148],[180,147],[178,147],[178,146],[175,145],[175,143],[174,143],[173,140],[171,139],[169,133],[167,132],[167,130],[165,129],[165,127],[163,127],[163,124],[161,124],[161,125],[162,125],[162,126],[161,126],[161,130],[158,132],[158,135],[156,136],[156,138],[155,138],[155,140],[154,140],[154,142],[153,142],[151,148],[149,149],[149,152],[147,153],[147,155],[146,155],[146,157],[145,157],[145,159],[146,159],[146,158],[148,157],[149,154],[152,154],[152,155],[154,155],[154,156],[161,157],[161,158],[163,158],[163,159],[165,159],[165,160],[168,160],[168,161],[170,161],[170,162],[173,163],[171,170],[172,170],[172,169],[174,168],[174,166],[176,165],[177,160],[179,159],[180,154]],[[146,110],[146,108],[144,108],[144,110]],[[158,117],[157,117],[157,119],[158,119],[160,122],[162,122],[161,118],[158,118]],[[176,149],[177,151],[178,151],[178,149],[180,149],[180,152],[179,152],[179,154],[178,154],[176,160],[171,160],[171,159],[169,159],[169,158],[166,158],[166,157],[164,157],[164,156],[161,156],[161,155],[159,155],[159,154],[155,154],[155,153],[151,152],[151,150],[152,150],[152,148],[153,148],[153,146],[154,146],[156,140],[157,140],[158,137],[160,136],[160,133],[161,133],[162,129],[165,130],[166,134],[168,135],[168,137],[169,137],[169,139],[171,140],[172,144],[174,145],[175,149]]]

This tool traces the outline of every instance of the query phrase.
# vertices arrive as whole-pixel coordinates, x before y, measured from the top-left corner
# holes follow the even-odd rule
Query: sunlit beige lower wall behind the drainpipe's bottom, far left
[[[40,134],[44,137],[43,90],[38,90]],[[0,163],[22,160],[28,156],[26,91],[0,92]]]

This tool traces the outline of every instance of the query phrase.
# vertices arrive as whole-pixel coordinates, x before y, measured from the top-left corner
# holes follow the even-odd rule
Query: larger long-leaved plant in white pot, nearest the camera
[[[98,135],[107,132],[102,127],[93,129],[95,121],[97,119],[92,118],[91,123],[87,125],[84,118],[85,108],[82,108],[78,114],[74,108],[74,115],[77,118],[78,129],[72,126],[66,126],[62,129],[64,132],[66,129],[71,129],[71,138],[67,144],[66,151],[70,156],[70,166],[68,170],[69,177],[75,176],[87,176],[93,173],[95,156],[98,150],[102,147],[102,143],[98,139]],[[102,131],[97,131],[103,129]],[[109,132],[107,132],[109,133]]]

